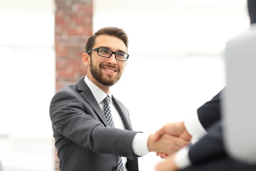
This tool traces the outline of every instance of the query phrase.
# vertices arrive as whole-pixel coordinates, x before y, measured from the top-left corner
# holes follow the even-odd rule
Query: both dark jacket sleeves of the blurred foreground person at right
[[[221,96],[223,91],[224,89],[197,110],[199,121],[208,133],[189,147],[189,159],[193,165],[227,156],[221,128]]]

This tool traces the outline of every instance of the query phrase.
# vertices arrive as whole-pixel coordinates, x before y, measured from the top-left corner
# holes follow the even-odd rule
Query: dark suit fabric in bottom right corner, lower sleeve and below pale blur
[[[256,165],[239,162],[227,154],[222,129],[221,121],[217,121],[209,127],[206,136],[190,145],[192,166],[180,171],[256,171]]]

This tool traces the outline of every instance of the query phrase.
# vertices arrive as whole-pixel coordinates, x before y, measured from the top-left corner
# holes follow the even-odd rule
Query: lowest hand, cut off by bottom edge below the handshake
[[[174,155],[167,157],[166,160],[158,162],[155,167],[156,171],[177,171],[178,169],[179,168],[174,162]]]

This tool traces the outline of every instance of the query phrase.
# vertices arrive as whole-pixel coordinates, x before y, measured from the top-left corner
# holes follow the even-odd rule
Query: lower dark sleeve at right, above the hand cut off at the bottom
[[[226,152],[223,144],[221,121],[213,124],[207,135],[189,147],[189,159],[192,165],[224,156],[226,156]]]

